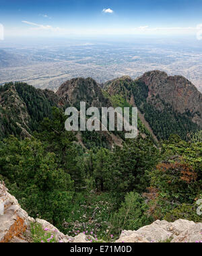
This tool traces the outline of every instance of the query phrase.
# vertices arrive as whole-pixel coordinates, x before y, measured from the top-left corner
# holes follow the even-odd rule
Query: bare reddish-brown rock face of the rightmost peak
[[[189,80],[179,75],[168,76],[162,71],[147,72],[138,80],[149,89],[148,101],[159,96],[177,113],[189,112],[193,123],[202,127],[202,94]]]

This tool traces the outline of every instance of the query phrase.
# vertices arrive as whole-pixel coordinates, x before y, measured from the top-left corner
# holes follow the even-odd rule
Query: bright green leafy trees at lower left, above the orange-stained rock
[[[73,181],[59,168],[54,153],[46,152],[37,139],[13,136],[0,142],[0,174],[9,192],[34,218],[58,228],[69,211]]]

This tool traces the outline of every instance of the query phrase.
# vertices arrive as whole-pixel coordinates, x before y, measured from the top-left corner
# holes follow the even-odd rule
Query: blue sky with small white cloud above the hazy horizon
[[[5,37],[198,33],[200,38],[201,14],[202,0],[0,0]]]

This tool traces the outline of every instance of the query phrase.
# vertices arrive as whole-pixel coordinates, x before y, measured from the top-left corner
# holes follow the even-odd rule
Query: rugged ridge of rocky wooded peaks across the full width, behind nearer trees
[[[18,130],[13,135],[21,134],[22,129],[30,133],[44,117],[51,116],[53,106],[79,109],[80,101],[85,101],[87,108],[137,106],[141,123],[154,139],[168,139],[171,134],[189,139],[190,133],[202,127],[202,94],[185,77],[168,76],[163,71],[149,71],[134,80],[119,77],[103,87],[91,77],[78,77],[63,83],[56,93],[24,83],[9,83],[0,89],[1,136],[8,134],[6,130],[11,133],[12,127]],[[11,102],[12,97],[17,102]]]

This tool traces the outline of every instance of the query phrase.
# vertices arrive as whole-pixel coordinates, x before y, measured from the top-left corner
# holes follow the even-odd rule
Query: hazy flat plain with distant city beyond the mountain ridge
[[[183,45],[183,46],[182,46]],[[141,42],[0,44],[0,84],[21,81],[57,90],[67,79],[92,77],[99,83],[160,69],[183,75],[202,92],[202,47]]]

